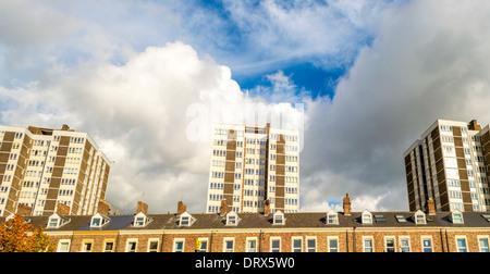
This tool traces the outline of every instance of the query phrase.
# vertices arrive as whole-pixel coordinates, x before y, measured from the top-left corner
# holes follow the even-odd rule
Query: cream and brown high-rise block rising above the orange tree
[[[22,210],[93,214],[106,197],[110,162],[87,133],[0,126],[0,216]]]

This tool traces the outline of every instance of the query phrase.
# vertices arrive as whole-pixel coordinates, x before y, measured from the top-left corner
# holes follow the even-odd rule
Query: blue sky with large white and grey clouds
[[[87,132],[107,199],[204,212],[213,122],[302,125],[301,210],[407,210],[403,152],[490,123],[488,0],[2,0],[0,122]]]

